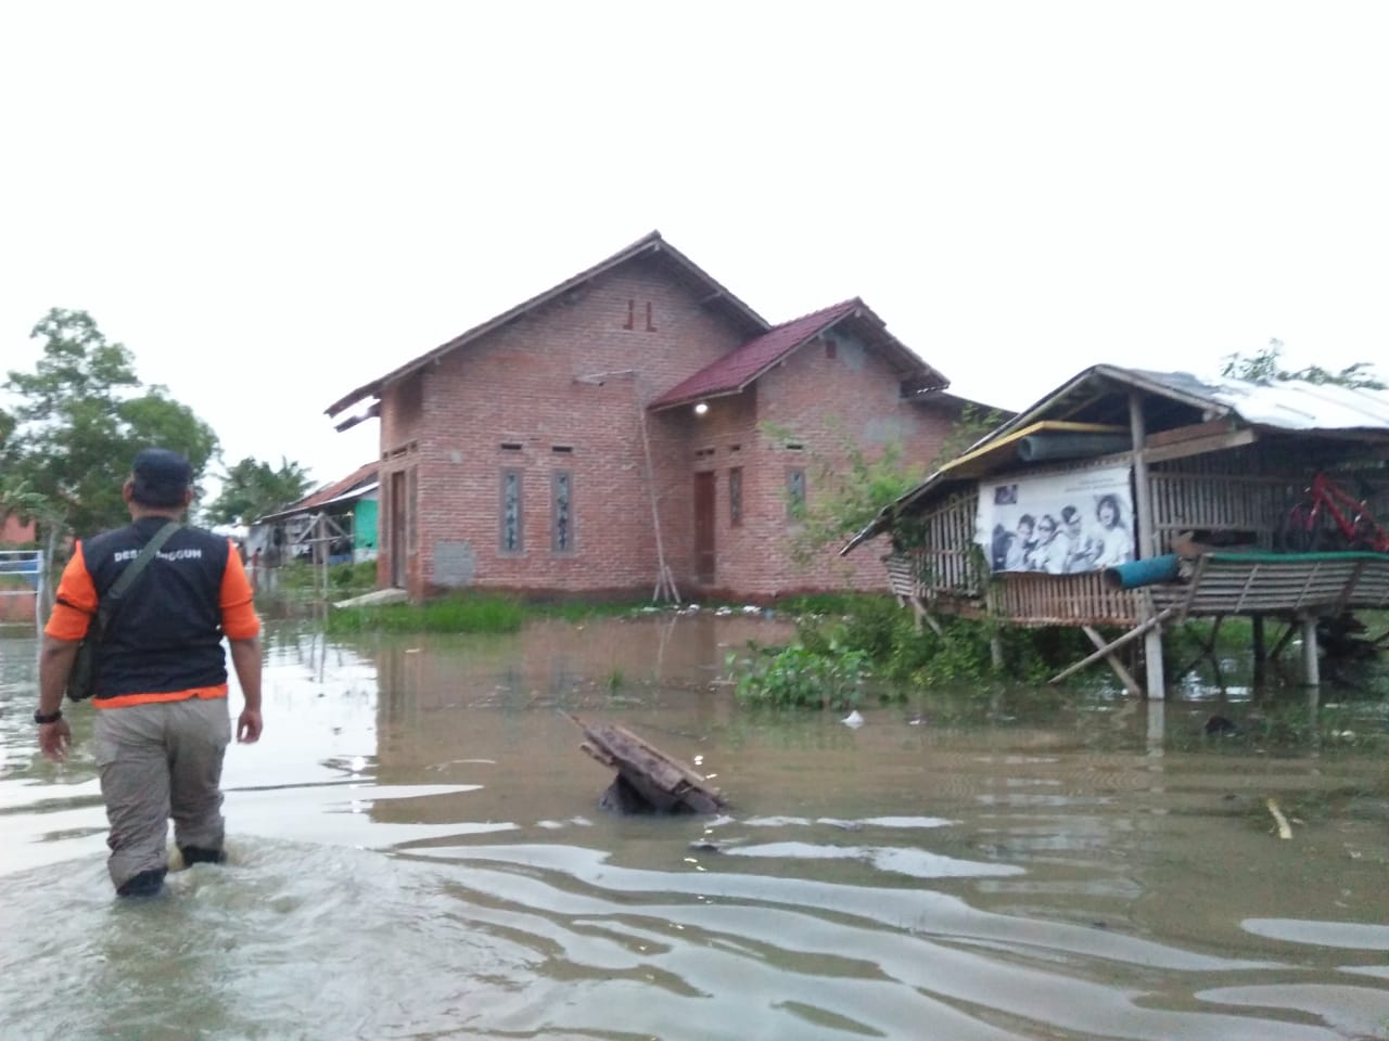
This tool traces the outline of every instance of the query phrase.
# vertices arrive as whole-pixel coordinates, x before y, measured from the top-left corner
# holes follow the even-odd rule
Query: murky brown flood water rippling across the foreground
[[[138,902],[106,876],[92,709],[39,758],[36,644],[0,640],[0,1038],[1389,1037],[1382,697],[736,706],[724,654],[786,632],[272,627],[232,863]],[[1207,737],[1215,711],[1253,733]],[[563,712],[731,812],[600,812]]]

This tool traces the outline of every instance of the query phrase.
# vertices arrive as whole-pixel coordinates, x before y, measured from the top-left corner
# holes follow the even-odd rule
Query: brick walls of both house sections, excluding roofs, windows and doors
[[[629,262],[474,344],[443,355],[382,394],[381,584],[397,545],[392,475],[414,473],[407,502],[407,589],[478,586],[526,591],[651,591],[661,548],[685,598],[718,591],[770,597],[801,589],[881,589],[872,547],[800,570],[786,554],[786,471],[811,471],[843,432],[865,444],[903,440],[933,455],[949,416],[900,398],[874,351],[839,337],[829,357],[808,344],[743,394],[644,416],[643,405],[746,340],[703,308],[694,290],[647,261]],[[796,430],[792,452],[758,430]],[[728,471],[743,468],[743,520],[732,526]],[[715,471],[714,582],[694,583],[694,472]],[[501,544],[503,473],[521,483],[519,551]],[[553,545],[556,475],[569,475],[572,547]],[[811,483],[810,496],[815,489]],[[838,547],[835,547],[838,548]]]

